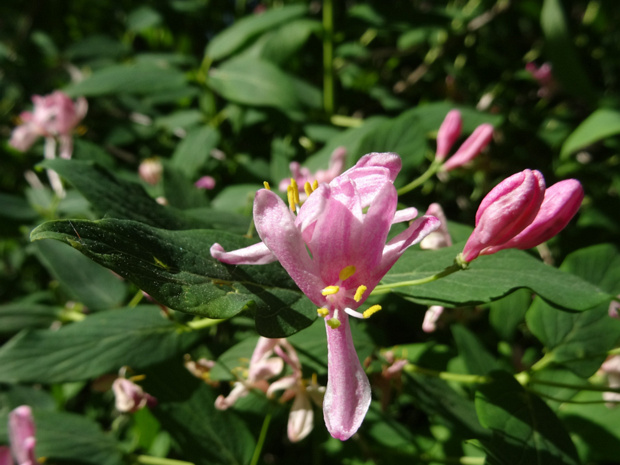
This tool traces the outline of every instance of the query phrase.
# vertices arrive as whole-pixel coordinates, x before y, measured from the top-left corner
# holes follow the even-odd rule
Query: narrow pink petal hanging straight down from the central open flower
[[[323,417],[329,433],[342,441],[359,429],[370,406],[370,383],[360,364],[349,317],[342,312],[340,326],[327,330],[327,390],[323,399]]]

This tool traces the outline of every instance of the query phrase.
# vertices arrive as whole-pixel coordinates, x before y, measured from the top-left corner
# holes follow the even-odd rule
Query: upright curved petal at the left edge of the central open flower
[[[322,306],[325,298],[321,289],[325,286],[295,218],[282,199],[267,189],[259,190],[254,199],[254,222],[258,235],[293,281],[315,305]]]

